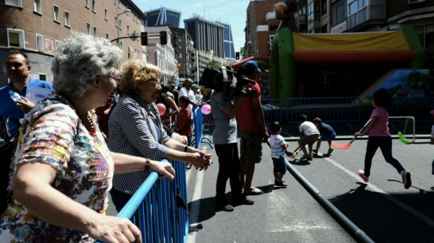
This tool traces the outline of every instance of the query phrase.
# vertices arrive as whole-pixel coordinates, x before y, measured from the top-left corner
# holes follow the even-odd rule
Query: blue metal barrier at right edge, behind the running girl
[[[432,121],[430,111],[434,109],[434,97],[392,97],[388,116],[413,116],[417,121]]]

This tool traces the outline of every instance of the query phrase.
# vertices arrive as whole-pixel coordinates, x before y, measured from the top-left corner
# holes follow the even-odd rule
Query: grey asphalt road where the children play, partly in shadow
[[[272,185],[272,160],[264,145],[253,178],[253,185],[264,194],[250,196],[253,206],[235,207],[232,212],[215,209],[214,150],[207,149],[214,153],[214,165],[206,172],[188,172],[188,242],[358,242],[289,173],[283,177],[288,188]],[[288,150],[296,146],[290,142]],[[393,141],[394,157],[412,173],[413,186],[408,190],[381,151],[372,162],[370,183],[363,183],[357,171],[363,169],[365,148],[366,141],[356,140],[347,150],[335,149],[329,158],[320,153],[310,162],[288,161],[374,242],[434,242],[433,147]],[[229,183],[227,192],[231,201]]]

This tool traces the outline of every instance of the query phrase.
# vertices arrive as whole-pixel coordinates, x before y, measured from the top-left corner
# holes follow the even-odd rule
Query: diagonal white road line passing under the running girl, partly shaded
[[[318,153],[318,155],[322,156],[321,153]],[[365,181],[363,181],[360,178],[360,176],[358,176],[358,174],[351,172],[349,169],[346,169],[342,165],[339,165],[339,163],[335,162],[334,160],[332,160],[330,158],[324,158],[324,159],[327,160],[328,162],[330,162],[332,165],[335,165],[335,167],[338,167],[339,169],[341,169],[346,174],[349,174],[357,181],[365,183]],[[431,218],[428,218],[427,216],[421,214],[419,211],[416,211],[412,207],[409,207],[407,204],[401,202],[400,200],[397,200],[395,197],[388,195],[384,190],[381,190],[381,188],[374,186],[372,183],[367,183],[367,188],[371,188],[371,190],[374,190],[377,193],[381,193],[381,195],[386,197],[387,200],[393,202],[394,204],[398,205],[400,208],[404,209],[405,211],[409,212],[410,214],[412,214],[416,218],[419,218],[421,221],[427,223],[428,225],[430,225],[431,227],[434,228],[434,221]]]

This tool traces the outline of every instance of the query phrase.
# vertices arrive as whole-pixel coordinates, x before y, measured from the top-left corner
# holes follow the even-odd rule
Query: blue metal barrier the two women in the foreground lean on
[[[171,163],[176,173],[174,182],[158,179],[158,174],[152,172],[117,215],[130,218],[139,227],[142,242],[187,242],[188,213],[176,207],[178,218],[175,214],[176,186],[187,205],[186,164],[173,160]]]

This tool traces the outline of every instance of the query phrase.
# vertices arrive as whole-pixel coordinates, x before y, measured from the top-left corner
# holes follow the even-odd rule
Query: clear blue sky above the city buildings
[[[246,27],[246,9],[250,0],[215,0],[215,1],[200,1],[200,0],[133,0],[134,4],[139,6],[141,11],[149,11],[150,9],[172,8],[181,11],[180,27],[184,28],[184,19],[190,18],[193,13],[204,15],[207,20],[221,20],[228,22],[232,26],[232,35],[234,38],[235,51],[239,51],[241,46],[244,46],[244,27]],[[210,18],[211,16],[211,18]]]

